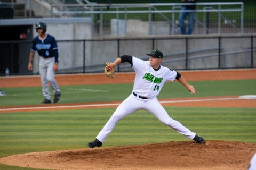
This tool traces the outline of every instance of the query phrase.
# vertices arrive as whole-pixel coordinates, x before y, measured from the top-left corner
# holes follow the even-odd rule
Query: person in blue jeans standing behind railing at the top
[[[186,10],[196,10],[197,0],[181,0],[182,3],[193,3],[195,5],[183,5],[179,15],[180,31],[182,34],[191,34],[194,29],[194,13],[186,12]],[[186,25],[184,23],[186,17],[188,16],[188,31],[186,30]]]

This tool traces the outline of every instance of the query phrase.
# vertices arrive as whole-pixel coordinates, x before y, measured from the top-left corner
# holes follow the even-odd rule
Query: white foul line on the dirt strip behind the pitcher
[[[233,98],[212,98],[212,99],[191,99],[191,100],[167,100],[160,101],[160,103],[182,103],[182,102],[194,102],[194,101],[215,101],[215,100],[237,100],[239,97]],[[43,106],[43,107],[17,107],[17,108],[2,108],[0,111],[22,111],[33,109],[51,109],[51,108],[77,108],[77,107],[103,107],[103,106],[117,106],[120,103],[113,104],[86,104],[86,105],[70,105],[70,106]]]

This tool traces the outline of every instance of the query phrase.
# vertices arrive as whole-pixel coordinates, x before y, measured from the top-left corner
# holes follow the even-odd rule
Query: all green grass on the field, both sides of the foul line
[[[256,80],[190,82],[197,95],[256,95]],[[60,103],[119,101],[132,84],[61,86]],[[42,100],[41,87],[2,88],[1,106],[34,105]],[[121,92],[122,91],[122,92]],[[191,97],[179,83],[166,83],[158,98]],[[170,116],[206,140],[256,143],[256,108],[165,107]],[[0,113],[0,157],[26,152],[81,149],[93,140],[115,108]],[[188,140],[146,111],[118,122],[103,147]],[[0,169],[31,169],[0,165]]]

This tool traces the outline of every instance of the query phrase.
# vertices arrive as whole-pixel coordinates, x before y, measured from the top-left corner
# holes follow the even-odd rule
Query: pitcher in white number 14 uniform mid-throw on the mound
[[[195,140],[198,143],[206,143],[206,141],[194,132],[191,132],[188,128],[183,126],[180,122],[173,120],[165,111],[163,106],[157,100],[157,95],[161,91],[164,83],[168,80],[178,80],[183,86],[187,88],[191,94],[196,94],[196,90],[193,86],[188,84],[186,79],[177,71],[168,69],[161,65],[163,60],[163,53],[157,49],[154,49],[149,55],[149,61],[143,61],[137,57],[130,55],[123,55],[117,57],[115,62],[107,63],[106,75],[110,78],[114,78],[110,74],[114,74],[114,68],[124,62],[131,64],[135,71],[135,80],[133,90],[129,97],[127,97],[117,108],[114,114],[110,117],[103,129],[99,132],[96,139],[87,143],[89,148],[101,147],[102,143],[107,138],[108,134],[114,129],[116,123],[124,116],[131,114],[139,109],[145,109],[146,111],[155,115],[159,121],[164,123],[175,131],[185,135],[185,137]]]

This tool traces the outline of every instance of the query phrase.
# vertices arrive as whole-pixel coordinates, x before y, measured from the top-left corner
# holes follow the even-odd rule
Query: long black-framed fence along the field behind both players
[[[94,40],[59,40],[59,71],[98,73],[106,62],[124,54],[148,60],[152,48],[164,53],[162,65],[175,70],[241,69],[256,67],[256,35],[169,36]],[[38,74],[39,56],[34,71],[27,70],[31,41],[0,41],[0,75]],[[129,63],[117,72],[133,71]]]

